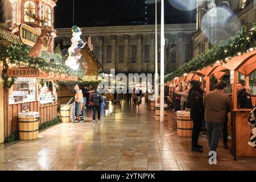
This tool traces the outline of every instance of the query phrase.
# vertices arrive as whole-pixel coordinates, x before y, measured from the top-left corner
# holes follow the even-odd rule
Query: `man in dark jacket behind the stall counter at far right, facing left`
[[[246,93],[243,82],[237,84],[237,108],[238,109],[251,109],[253,104],[251,102],[250,94]]]

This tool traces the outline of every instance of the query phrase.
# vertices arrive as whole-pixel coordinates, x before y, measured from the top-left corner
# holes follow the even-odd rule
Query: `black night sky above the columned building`
[[[165,23],[195,23],[195,10],[179,11],[165,0]],[[75,24],[80,27],[155,24],[155,4],[145,0],[75,0]],[[145,19],[147,18],[147,20]],[[145,22],[146,20],[146,22]],[[73,0],[59,0],[55,7],[55,27],[72,27]],[[160,3],[158,3],[160,23]]]

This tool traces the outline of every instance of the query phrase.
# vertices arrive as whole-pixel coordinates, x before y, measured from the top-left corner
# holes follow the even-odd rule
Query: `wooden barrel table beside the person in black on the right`
[[[193,121],[190,118],[190,111],[180,110],[176,115],[178,137],[192,137]]]

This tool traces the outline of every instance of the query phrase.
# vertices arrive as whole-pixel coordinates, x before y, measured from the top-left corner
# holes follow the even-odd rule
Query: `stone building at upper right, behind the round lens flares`
[[[245,25],[250,29],[252,23],[256,22],[256,0],[210,0],[207,3],[208,6],[210,2],[216,3],[216,5],[222,3],[221,5],[225,7],[228,7],[225,2],[229,3],[229,9],[236,15],[229,20],[225,27],[230,36],[235,35],[240,30],[241,25]],[[208,10],[207,5],[204,4],[201,8]],[[197,7],[196,33],[192,36],[193,57],[205,53],[211,47],[209,40],[206,38],[203,30],[201,30],[201,20],[205,13],[204,10],[200,10],[200,6]],[[218,38],[221,40],[221,35],[218,35]]]

